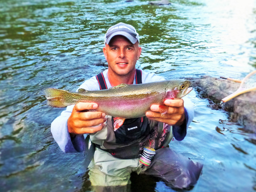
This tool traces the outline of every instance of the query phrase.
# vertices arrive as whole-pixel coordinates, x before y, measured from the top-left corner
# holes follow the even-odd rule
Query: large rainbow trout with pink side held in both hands
[[[145,116],[152,104],[164,105],[166,99],[180,99],[191,90],[191,82],[185,79],[172,79],[143,84],[119,84],[107,90],[68,92],[48,88],[45,90],[47,105],[65,108],[78,102],[98,104],[96,111],[115,117],[114,126],[120,127],[125,119]],[[165,114],[164,110],[161,114]],[[118,129],[118,128],[117,128]]]

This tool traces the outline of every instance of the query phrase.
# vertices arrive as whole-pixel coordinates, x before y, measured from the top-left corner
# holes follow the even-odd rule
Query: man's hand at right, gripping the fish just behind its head
[[[146,117],[169,125],[182,125],[185,121],[183,99],[167,99],[164,104],[151,105],[151,111],[146,112]]]

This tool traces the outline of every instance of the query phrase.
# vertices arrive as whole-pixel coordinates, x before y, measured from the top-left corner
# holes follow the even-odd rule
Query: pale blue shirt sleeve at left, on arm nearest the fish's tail
[[[82,83],[78,89],[83,88],[89,91],[97,90],[99,86],[95,80],[96,78],[92,77]],[[67,109],[63,111],[51,124],[52,136],[60,149],[65,153],[83,152],[86,147],[83,135],[76,135],[71,138],[68,131],[68,119],[74,106],[75,105],[67,106]]]

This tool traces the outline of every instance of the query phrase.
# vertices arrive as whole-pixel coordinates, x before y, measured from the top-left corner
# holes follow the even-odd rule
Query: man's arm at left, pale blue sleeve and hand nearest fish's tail
[[[99,89],[96,77],[86,80],[78,89],[94,91]],[[96,132],[103,126],[101,112],[89,112],[97,109],[96,103],[77,103],[68,106],[51,124],[54,140],[65,153],[82,152],[86,147],[83,134]],[[101,116],[99,115],[101,113]],[[96,120],[100,116],[101,120]],[[103,119],[103,120],[102,120]],[[88,127],[89,126],[89,127]]]

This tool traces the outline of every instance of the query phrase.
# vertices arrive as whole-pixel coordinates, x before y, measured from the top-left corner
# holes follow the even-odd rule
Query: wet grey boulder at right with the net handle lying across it
[[[209,76],[189,80],[200,97],[214,102],[210,105],[211,108],[229,112],[230,120],[236,121],[244,125],[247,130],[256,133],[256,92],[241,94],[222,104],[221,99],[237,91],[240,83]]]

